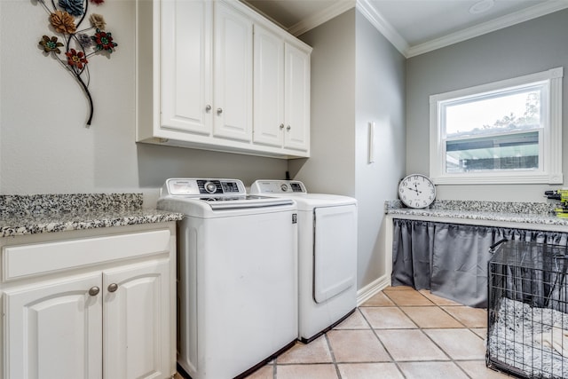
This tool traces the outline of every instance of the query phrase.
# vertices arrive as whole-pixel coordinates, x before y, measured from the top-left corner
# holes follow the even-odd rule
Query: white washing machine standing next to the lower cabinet
[[[171,178],[178,223],[177,363],[193,379],[247,375],[297,338],[294,201],[240,180]]]

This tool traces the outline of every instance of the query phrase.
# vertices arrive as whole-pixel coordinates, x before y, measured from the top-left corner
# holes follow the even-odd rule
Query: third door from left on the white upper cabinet
[[[281,147],[284,134],[284,41],[255,25],[253,141]]]

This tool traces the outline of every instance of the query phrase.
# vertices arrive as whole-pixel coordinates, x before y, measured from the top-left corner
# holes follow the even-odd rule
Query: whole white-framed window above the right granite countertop
[[[430,96],[436,184],[562,184],[563,67]]]

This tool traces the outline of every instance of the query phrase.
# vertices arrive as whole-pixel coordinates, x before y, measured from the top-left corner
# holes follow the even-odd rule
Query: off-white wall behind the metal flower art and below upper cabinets
[[[90,3],[90,11],[105,17],[118,46],[110,59],[89,59],[95,109],[85,128],[83,91],[39,45],[53,36],[48,13],[36,0],[0,1],[0,193],[142,192],[154,206],[166,178],[241,178],[247,185],[284,178],[285,160],[137,145],[135,3]]]

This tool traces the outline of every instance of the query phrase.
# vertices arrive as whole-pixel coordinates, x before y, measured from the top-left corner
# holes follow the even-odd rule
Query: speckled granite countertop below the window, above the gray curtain
[[[406,208],[401,201],[385,201],[388,215],[413,217],[459,218],[535,225],[565,225],[568,218],[556,217],[552,202],[512,201],[434,201],[429,208]]]

